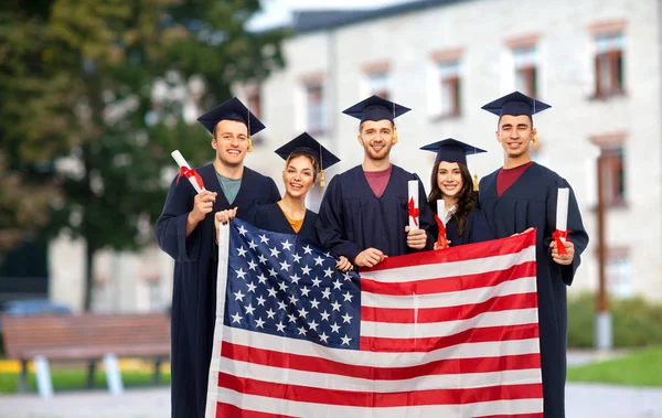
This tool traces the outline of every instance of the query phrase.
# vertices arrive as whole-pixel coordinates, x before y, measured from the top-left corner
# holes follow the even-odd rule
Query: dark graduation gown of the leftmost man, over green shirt
[[[214,213],[238,207],[237,217],[253,222],[259,204],[280,200],[276,183],[244,168],[242,185],[231,205],[213,164],[197,169],[204,186],[216,192],[214,211],[186,238],[186,217],[193,208],[195,190],[181,178],[170,185],[163,212],[157,219],[159,247],[174,258],[171,319],[171,396],[173,418],[203,418],[212,355],[216,309]]]

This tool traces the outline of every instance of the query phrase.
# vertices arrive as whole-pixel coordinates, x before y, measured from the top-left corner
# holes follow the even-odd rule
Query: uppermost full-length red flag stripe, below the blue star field
[[[309,355],[289,354],[223,342],[222,356],[237,362],[265,366],[323,373],[371,381],[404,381],[429,375],[490,373],[540,368],[540,354],[503,355],[499,357],[448,358],[406,367],[373,367],[334,362]]]

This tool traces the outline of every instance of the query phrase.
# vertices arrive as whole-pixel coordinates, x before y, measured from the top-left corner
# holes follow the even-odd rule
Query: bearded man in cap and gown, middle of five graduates
[[[363,163],[335,175],[324,193],[316,227],[322,246],[355,266],[373,267],[387,256],[433,249],[437,225],[420,179],[391,163],[397,142],[394,119],[408,108],[377,96],[345,109],[361,121]],[[409,231],[409,180],[418,181],[419,229]]]

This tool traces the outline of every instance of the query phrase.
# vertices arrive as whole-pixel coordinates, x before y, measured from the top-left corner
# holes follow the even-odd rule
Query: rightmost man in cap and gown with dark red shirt
[[[496,140],[503,148],[503,167],[480,182],[480,206],[498,238],[536,228],[536,281],[545,418],[565,417],[567,301],[580,255],[588,244],[575,194],[565,179],[531,161],[537,142],[533,115],[549,108],[520,92],[482,107],[499,117]],[[569,189],[567,254],[558,251],[556,231],[559,187]]]

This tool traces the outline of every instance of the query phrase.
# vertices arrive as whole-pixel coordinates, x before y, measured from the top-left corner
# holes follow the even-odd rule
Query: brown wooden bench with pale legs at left
[[[118,357],[153,360],[154,383],[160,381],[161,363],[170,357],[170,319],[162,313],[3,317],[2,328],[7,356],[21,362],[19,392],[28,388],[32,360],[44,397],[53,393],[49,361],[86,362],[87,387],[92,387],[96,364],[104,360],[108,389],[121,393]]]

